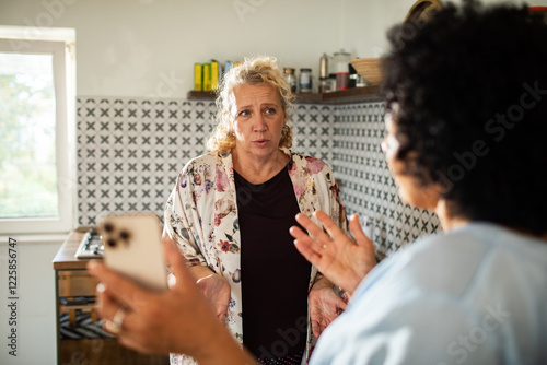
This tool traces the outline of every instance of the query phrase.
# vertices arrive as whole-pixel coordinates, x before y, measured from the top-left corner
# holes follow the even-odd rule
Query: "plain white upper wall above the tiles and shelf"
[[[77,30],[78,95],[186,97],[194,62],[271,55],[311,67],[345,48],[377,57],[415,0],[24,0],[0,24]],[[486,2],[500,2],[489,0]],[[513,0],[510,2],[520,3]],[[547,4],[535,0],[534,4]]]

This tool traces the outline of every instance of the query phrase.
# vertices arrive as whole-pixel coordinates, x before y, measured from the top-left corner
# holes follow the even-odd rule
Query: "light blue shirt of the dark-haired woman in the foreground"
[[[547,364],[547,242],[474,223],[407,246],[321,335],[319,364]]]

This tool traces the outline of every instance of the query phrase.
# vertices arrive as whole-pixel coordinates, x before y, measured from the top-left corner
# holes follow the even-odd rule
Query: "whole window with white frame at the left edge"
[[[73,227],[74,31],[0,26],[0,233]]]

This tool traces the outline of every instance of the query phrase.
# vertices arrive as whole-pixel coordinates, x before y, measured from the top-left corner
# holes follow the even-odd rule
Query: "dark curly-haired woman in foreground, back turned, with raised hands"
[[[546,39],[547,25],[526,9],[472,1],[389,33],[382,148],[401,199],[434,210],[445,233],[376,264],[356,216],[349,238],[324,212],[315,213],[323,227],[299,214],[310,236],[292,227],[296,248],[352,294],[311,364],[547,363]],[[171,259],[187,279],[181,257]],[[93,272],[123,293],[138,291],[105,269]],[[191,280],[164,298],[188,308],[205,301]],[[212,316],[172,315],[193,335],[123,338],[203,364],[253,362]],[[147,313],[133,320],[147,330],[177,328]]]

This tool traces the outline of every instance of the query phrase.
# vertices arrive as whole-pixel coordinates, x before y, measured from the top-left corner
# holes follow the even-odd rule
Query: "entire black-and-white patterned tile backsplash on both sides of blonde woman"
[[[78,223],[97,214],[153,211],[160,216],[178,172],[206,152],[213,102],[80,96]],[[293,146],[325,161],[340,181],[348,213],[361,221],[382,255],[439,228],[434,214],[404,204],[380,142],[384,104],[296,104]]]

